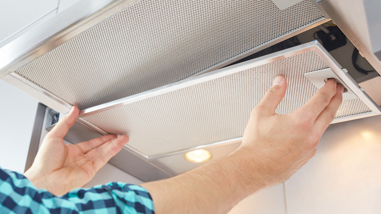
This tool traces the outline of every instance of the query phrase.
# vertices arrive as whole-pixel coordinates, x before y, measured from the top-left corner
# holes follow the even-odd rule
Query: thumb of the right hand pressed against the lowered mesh
[[[286,94],[287,82],[283,76],[277,76],[274,79],[273,86],[266,92],[261,102],[258,104],[266,115],[274,115],[275,109]]]

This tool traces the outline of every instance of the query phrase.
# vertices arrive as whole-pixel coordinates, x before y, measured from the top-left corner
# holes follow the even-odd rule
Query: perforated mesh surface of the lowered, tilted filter
[[[171,153],[241,137],[252,108],[277,75],[286,77],[288,90],[276,112],[296,110],[318,90],[304,73],[327,67],[310,51],[84,119],[109,133],[128,134],[129,146],[148,156]],[[354,99],[344,101],[336,116],[369,111],[360,99]]]

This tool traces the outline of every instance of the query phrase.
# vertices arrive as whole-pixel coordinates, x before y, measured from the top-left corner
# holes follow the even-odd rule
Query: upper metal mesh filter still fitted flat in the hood
[[[16,72],[80,109],[164,86],[324,19],[310,0],[140,0]]]

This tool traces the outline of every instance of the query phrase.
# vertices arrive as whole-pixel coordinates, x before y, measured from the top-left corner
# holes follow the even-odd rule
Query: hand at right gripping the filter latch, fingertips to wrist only
[[[290,114],[276,114],[286,87],[284,77],[275,78],[253,109],[237,150],[239,155],[252,157],[247,165],[255,171],[251,179],[263,187],[287,180],[315,155],[321,135],[335,118],[344,90],[330,79],[303,107]]]

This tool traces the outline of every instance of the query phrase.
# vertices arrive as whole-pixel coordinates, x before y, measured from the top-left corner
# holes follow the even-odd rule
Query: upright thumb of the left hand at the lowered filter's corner
[[[71,107],[70,112],[65,115],[61,120],[58,121],[56,126],[49,131],[49,133],[46,135],[46,138],[62,138],[65,136],[67,131],[69,131],[69,128],[73,126],[75,123],[75,120],[77,120],[79,114],[78,107],[73,106]]]

